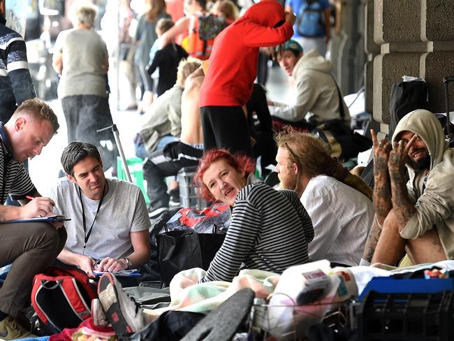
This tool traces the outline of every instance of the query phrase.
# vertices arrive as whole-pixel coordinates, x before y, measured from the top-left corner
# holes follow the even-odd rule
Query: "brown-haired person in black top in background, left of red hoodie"
[[[171,19],[159,19],[156,24],[156,34],[159,38],[173,27]],[[166,46],[159,50],[159,38],[154,41],[152,49],[149,52],[149,64],[147,72],[152,75],[156,68],[159,68],[159,80],[156,87],[156,94],[161,96],[168,89],[173,87],[175,80],[177,80],[178,64],[183,58],[187,58],[187,52],[175,41],[168,43]]]

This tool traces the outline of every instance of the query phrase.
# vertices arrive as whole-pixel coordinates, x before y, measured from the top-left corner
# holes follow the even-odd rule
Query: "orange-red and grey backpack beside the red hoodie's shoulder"
[[[208,59],[214,38],[227,26],[223,17],[211,13],[191,17],[188,36],[188,54],[198,59]]]

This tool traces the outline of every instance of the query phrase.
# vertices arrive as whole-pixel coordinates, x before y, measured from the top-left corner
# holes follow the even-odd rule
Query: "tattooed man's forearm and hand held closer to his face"
[[[404,140],[400,140],[399,143],[395,142],[394,149],[390,152],[388,160],[393,208],[399,224],[399,231],[402,231],[407,226],[411,217],[416,213],[416,208],[409,197],[404,176],[408,152],[416,137],[416,134],[413,135],[409,143],[404,143]]]

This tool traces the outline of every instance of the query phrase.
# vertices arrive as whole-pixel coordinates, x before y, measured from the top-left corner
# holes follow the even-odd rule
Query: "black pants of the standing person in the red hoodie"
[[[202,115],[205,151],[226,148],[253,157],[251,136],[244,112],[239,106],[205,106]]]

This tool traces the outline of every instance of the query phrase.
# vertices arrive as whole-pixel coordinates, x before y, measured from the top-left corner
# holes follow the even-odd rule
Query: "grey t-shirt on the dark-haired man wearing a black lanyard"
[[[85,255],[93,259],[129,256],[133,252],[130,232],[147,230],[149,222],[147,205],[140,188],[135,184],[118,179],[106,179],[108,192],[94,222],[87,241]],[[50,189],[48,196],[55,202],[54,212],[71,218],[65,222],[68,238],[65,249],[82,254],[84,247],[84,228],[79,187],[68,179],[61,178]],[[87,198],[82,192],[85,210],[86,233],[93,222],[99,201]]]

